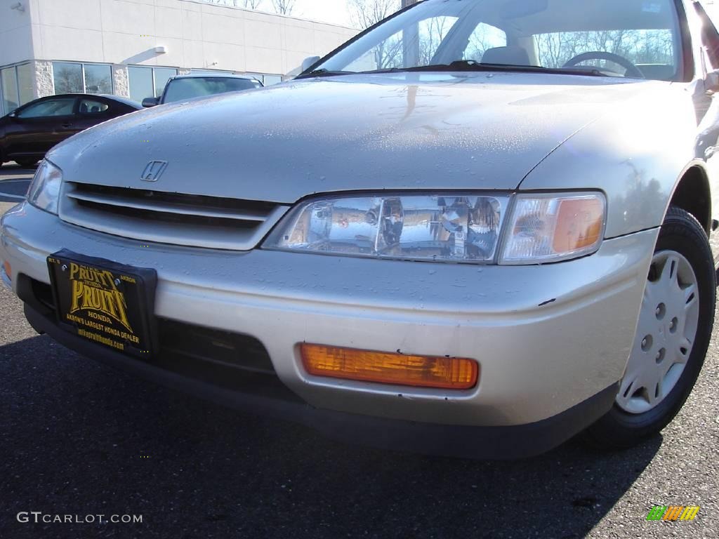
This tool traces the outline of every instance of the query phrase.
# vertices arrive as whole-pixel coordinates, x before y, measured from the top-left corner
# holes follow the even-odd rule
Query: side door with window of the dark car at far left
[[[6,126],[5,153],[8,157],[42,157],[73,134],[77,98],[44,98],[23,106],[11,115]]]

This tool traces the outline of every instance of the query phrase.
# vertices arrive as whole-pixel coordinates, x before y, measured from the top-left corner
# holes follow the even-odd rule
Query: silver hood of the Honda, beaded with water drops
[[[534,73],[298,80],[160,106],[89,129],[49,159],[66,180],[293,203],[345,190],[513,190],[640,88]],[[153,160],[168,162],[155,183]]]

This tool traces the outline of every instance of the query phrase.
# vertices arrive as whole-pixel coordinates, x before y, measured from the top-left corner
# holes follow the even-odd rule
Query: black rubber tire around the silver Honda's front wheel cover
[[[661,226],[655,252],[672,250],[683,254],[697,277],[700,308],[695,343],[684,372],[659,405],[641,414],[631,414],[616,403],[584,433],[585,441],[598,448],[628,448],[659,433],[682,409],[699,377],[714,327],[716,273],[707,234],[690,213],[669,208]],[[638,337],[636,337],[638,338]]]

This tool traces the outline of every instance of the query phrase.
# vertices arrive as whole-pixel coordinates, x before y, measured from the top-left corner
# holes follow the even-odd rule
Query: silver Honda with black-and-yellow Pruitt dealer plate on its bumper
[[[421,1],[55,147],[2,280],[70,349],[342,440],[628,447],[712,333],[718,69],[692,0]]]

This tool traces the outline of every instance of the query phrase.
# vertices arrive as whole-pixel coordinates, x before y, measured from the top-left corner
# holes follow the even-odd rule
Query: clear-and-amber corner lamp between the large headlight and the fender
[[[517,195],[500,264],[546,264],[596,252],[607,202],[600,193]]]

